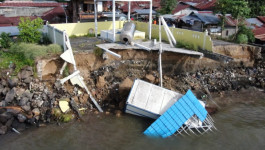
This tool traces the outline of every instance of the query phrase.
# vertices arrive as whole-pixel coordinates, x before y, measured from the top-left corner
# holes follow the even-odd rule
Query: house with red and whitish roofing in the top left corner
[[[17,26],[20,17],[42,18],[50,23],[61,23],[66,20],[66,13],[61,3],[6,1],[0,3],[0,26]]]

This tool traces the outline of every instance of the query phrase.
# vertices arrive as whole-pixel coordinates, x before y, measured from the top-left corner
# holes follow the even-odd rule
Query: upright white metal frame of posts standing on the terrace
[[[95,10],[95,36],[97,37],[98,33],[98,23],[97,23],[97,17],[98,17],[98,11],[97,11],[97,2],[108,2],[112,1],[112,6],[115,6],[116,1],[121,2],[128,2],[128,21],[130,21],[130,14],[131,14],[131,2],[150,2],[150,8],[149,8],[149,40],[151,40],[151,31],[152,31],[152,0],[94,0],[94,10]],[[113,22],[113,42],[115,42],[115,7],[112,7],[112,22]]]

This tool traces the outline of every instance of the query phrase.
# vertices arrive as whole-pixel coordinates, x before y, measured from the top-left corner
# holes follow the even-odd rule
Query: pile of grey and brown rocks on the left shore
[[[78,87],[66,90],[59,82],[49,87],[45,82],[34,79],[31,67],[23,68],[17,77],[5,75],[0,78],[0,135],[12,129],[23,131],[27,126],[39,126],[54,120],[69,121],[69,116],[73,119],[75,111],[71,109],[67,116],[59,109],[59,101],[65,98],[69,99],[68,102],[73,99],[70,105],[75,109],[91,107],[88,95],[82,94]]]

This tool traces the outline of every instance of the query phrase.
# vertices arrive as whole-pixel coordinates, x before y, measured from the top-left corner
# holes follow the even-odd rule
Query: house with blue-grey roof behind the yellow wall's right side
[[[220,19],[212,14],[192,12],[181,18],[181,27],[184,29],[204,32],[217,28]]]

